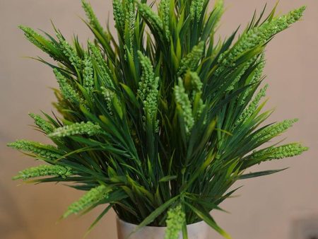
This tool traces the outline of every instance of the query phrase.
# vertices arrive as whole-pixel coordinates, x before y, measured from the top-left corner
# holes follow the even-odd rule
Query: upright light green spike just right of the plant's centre
[[[191,101],[189,100],[189,95],[185,92],[181,78],[178,80],[178,85],[175,86],[175,101],[182,110],[185,131],[189,135],[194,126],[194,117],[192,115]]]

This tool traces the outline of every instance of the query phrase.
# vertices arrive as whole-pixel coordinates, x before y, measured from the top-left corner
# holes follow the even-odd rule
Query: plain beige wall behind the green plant
[[[247,23],[264,0],[227,0],[220,28],[230,35],[239,23]],[[272,7],[276,0],[267,1]],[[91,0],[105,21],[111,12],[110,0]],[[216,213],[216,219],[235,239],[288,239],[293,221],[318,216],[318,1],[281,0],[278,10],[285,13],[305,4],[304,21],[275,37],[267,48],[266,81],[270,84],[268,107],[276,107],[272,119],[299,117],[288,133],[290,141],[300,140],[311,150],[303,156],[271,162],[255,169],[285,168],[283,173],[237,183],[245,185],[240,197],[222,206],[231,214]],[[78,18],[83,16],[78,0],[0,0],[0,238],[56,239],[81,238],[99,210],[83,218],[57,219],[81,192],[62,185],[20,185],[11,176],[35,165],[30,158],[6,148],[17,138],[40,139],[28,124],[28,112],[50,111],[54,100],[49,86],[56,86],[52,72],[44,65],[23,59],[39,50],[28,43],[16,25],[30,25],[52,33],[51,18],[61,31],[81,40],[90,37]],[[112,16],[110,16],[112,19]],[[116,238],[114,213],[107,214],[89,238]],[[211,238],[220,238],[211,231]],[[305,239],[305,238],[304,238]]]

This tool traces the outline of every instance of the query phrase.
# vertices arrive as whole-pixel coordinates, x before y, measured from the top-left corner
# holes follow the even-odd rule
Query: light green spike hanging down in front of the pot
[[[182,206],[178,205],[175,208],[167,211],[167,229],[165,230],[165,239],[178,239],[180,231],[185,221],[185,214],[182,211]]]

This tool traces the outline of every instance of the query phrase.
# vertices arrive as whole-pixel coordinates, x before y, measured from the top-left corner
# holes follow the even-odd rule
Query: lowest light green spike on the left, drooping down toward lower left
[[[86,192],[86,194],[84,194],[83,197],[81,197],[78,201],[73,202],[73,204],[68,207],[62,217],[66,218],[71,214],[78,214],[78,212],[83,211],[89,206],[100,202],[102,199],[107,199],[109,192],[110,189],[105,185],[93,187],[91,190]]]

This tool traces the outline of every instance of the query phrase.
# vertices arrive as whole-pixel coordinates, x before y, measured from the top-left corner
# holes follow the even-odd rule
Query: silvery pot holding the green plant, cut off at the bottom
[[[126,223],[117,217],[117,235],[118,239],[164,239],[165,227],[146,226],[136,233],[129,234],[136,228],[135,224]],[[187,226],[189,239],[208,238],[208,225],[204,221],[193,223]],[[129,236],[129,238],[128,238]],[[179,238],[182,239],[182,233]]]

